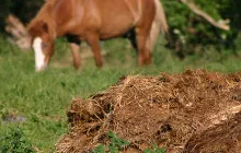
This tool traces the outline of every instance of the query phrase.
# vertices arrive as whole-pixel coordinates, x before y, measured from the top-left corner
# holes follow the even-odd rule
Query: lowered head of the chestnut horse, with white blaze
[[[54,54],[54,38],[49,33],[47,23],[39,21],[30,26],[32,46],[35,52],[35,70],[42,71],[47,68]]]

